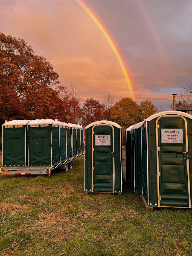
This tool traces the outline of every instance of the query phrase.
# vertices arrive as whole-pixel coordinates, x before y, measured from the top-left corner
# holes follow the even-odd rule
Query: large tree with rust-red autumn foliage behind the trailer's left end
[[[59,84],[49,61],[35,55],[23,39],[0,33],[0,124],[58,116],[66,121],[68,108],[58,97],[65,87]]]

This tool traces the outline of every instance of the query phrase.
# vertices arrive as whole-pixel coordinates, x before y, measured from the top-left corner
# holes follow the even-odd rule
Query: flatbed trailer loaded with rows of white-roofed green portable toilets
[[[84,154],[81,131],[81,125],[57,119],[5,122],[0,174],[50,175],[58,167],[66,171],[72,169],[73,161]]]

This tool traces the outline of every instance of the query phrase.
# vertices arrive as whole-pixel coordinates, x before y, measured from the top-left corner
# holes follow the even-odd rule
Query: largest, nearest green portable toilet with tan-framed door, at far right
[[[141,126],[142,191],[148,206],[191,208],[192,116],[163,111]]]

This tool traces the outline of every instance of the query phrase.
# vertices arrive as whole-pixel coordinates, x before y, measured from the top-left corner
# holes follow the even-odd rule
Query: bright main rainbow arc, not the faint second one
[[[110,44],[111,48],[113,49],[113,52],[116,55],[116,58],[119,61],[119,64],[122,68],[122,71],[124,73],[126,83],[128,85],[128,88],[131,93],[131,97],[135,100],[135,95],[134,95],[134,89],[133,85],[131,83],[130,75],[128,74],[128,68],[126,67],[125,61],[121,55],[120,50],[118,49],[113,37],[110,35],[108,30],[105,28],[105,26],[102,24],[101,20],[96,16],[96,14],[93,12],[93,10],[90,9],[89,6],[87,6],[86,3],[82,0],[76,0],[76,2],[84,9],[84,11],[90,16],[90,18],[94,21],[94,23],[99,27],[105,38],[107,39],[108,43]]]

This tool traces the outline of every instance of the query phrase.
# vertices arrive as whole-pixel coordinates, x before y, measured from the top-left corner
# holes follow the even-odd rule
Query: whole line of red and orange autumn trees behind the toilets
[[[0,128],[4,120],[55,119],[84,127],[98,120],[117,122],[122,128],[142,121],[157,108],[150,100],[131,98],[114,102],[107,93],[102,102],[82,103],[77,86],[60,84],[58,73],[23,39],[0,33]]]

